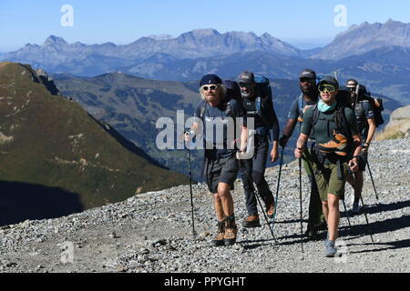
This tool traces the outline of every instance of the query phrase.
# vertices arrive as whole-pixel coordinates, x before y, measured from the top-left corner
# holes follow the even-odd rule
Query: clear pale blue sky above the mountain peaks
[[[74,25],[63,27],[62,5],[74,9]],[[347,27],[334,25],[336,5],[346,7]],[[0,2],[0,52],[27,43],[41,45],[48,35],[69,43],[124,45],[144,35],[174,35],[196,28],[265,32],[291,44],[324,45],[350,25],[410,22],[410,1],[370,0],[19,0]]]

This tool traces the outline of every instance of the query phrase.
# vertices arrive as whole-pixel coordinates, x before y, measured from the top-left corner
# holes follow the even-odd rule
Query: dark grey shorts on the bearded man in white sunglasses
[[[212,194],[218,193],[218,184],[226,183],[233,190],[233,183],[238,176],[239,162],[236,156],[221,157],[219,159],[205,161],[205,175],[208,189]]]

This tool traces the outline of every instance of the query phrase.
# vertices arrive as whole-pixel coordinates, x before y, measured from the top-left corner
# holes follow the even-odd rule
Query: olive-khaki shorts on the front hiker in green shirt
[[[314,177],[316,179],[321,200],[327,201],[328,194],[333,194],[340,199],[344,199],[344,185],[346,184],[346,177],[348,174],[347,163],[342,163],[342,180],[338,178],[338,166],[335,164],[324,164],[318,168],[318,166],[313,163],[313,167],[315,172]]]

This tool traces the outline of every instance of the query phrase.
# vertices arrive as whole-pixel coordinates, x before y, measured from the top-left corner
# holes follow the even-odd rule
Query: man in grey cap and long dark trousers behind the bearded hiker
[[[271,161],[278,159],[279,124],[275,110],[273,109],[271,95],[262,95],[258,92],[255,75],[244,71],[239,75],[241,87],[243,113],[247,120],[253,118],[254,151],[250,159],[244,159],[241,166],[246,169],[241,171],[241,179],[245,192],[246,209],[248,216],[242,222],[244,227],[261,226],[258,215],[256,194],[253,192],[252,181],[261,196],[266,214],[269,218],[274,214],[274,198],[265,179],[266,159],[270,154]],[[250,129],[251,131],[251,129]],[[272,131],[272,151],[269,153],[269,136]]]

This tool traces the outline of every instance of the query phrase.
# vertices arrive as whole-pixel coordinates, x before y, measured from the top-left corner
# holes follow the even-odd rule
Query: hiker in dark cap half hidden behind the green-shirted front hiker
[[[299,86],[301,95],[293,100],[288,113],[288,121],[283,128],[283,134],[279,140],[280,146],[285,147],[291,138],[294,128],[299,122],[299,131],[301,131],[304,112],[319,100],[319,91],[316,86],[316,73],[312,69],[303,69],[299,74]],[[319,197],[319,191],[313,176],[313,142],[314,135],[309,135],[308,144],[305,146],[303,153],[303,167],[311,183],[311,196],[309,201],[309,218],[306,230],[306,236],[315,239],[319,229],[325,227],[322,202]]]

